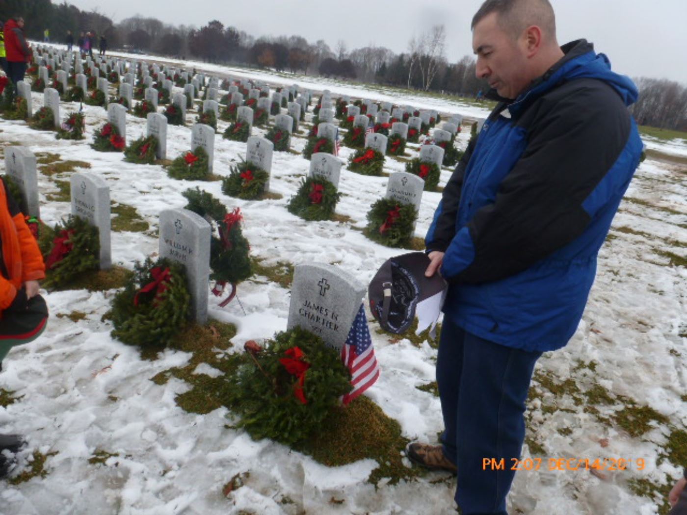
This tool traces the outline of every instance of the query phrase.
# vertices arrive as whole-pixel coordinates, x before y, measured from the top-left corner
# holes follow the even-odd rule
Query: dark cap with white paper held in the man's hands
[[[447,284],[435,273],[425,277],[429,266],[425,253],[412,252],[387,260],[370,282],[372,315],[386,331],[405,332],[418,314],[418,330],[436,325]]]

